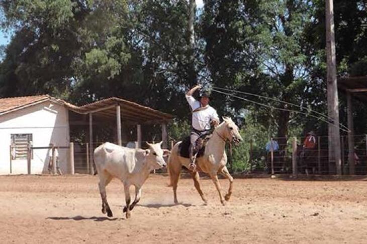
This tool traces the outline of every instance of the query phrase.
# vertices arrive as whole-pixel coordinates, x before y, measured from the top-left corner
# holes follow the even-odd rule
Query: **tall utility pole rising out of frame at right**
[[[327,103],[331,118],[328,128],[329,164],[335,162],[336,173],[341,175],[339,102],[336,80],[335,32],[333,0],[326,0],[326,56],[327,56]]]

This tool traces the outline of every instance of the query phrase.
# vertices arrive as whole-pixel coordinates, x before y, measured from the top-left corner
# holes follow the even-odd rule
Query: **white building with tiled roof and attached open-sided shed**
[[[124,112],[126,110],[126,116]],[[128,114],[127,114],[128,113]],[[70,119],[69,116],[73,119]],[[93,116],[94,115],[94,116]],[[119,117],[118,117],[119,115]],[[143,115],[143,116],[142,116]],[[109,98],[82,107],[66,103],[63,100],[49,95],[14,97],[0,99],[0,174],[27,174],[27,145],[32,147],[48,147],[54,143],[58,147],[67,147],[70,143],[70,124],[89,116],[86,122],[90,145],[94,144],[92,121],[110,120],[117,124],[115,128],[118,144],[121,138],[124,123],[135,124],[138,138],[141,141],[141,125],[155,121],[161,123],[166,133],[165,124],[172,116],[142,105]],[[129,116],[133,116],[132,121]],[[121,119],[123,118],[123,119]],[[71,121],[71,122],[70,122]],[[163,133],[162,132],[162,133]],[[140,137],[140,138],[139,138]],[[162,134],[162,138],[166,135]],[[114,142],[114,141],[112,141]],[[11,145],[14,147],[11,150]],[[93,153],[89,148],[90,155]],[[69,149],[60,148],[59,165],[62,172],[71,172],[69,168]],[[91,158],[89,155],[89,158]],[[34,149],[31,156],[31,173],[42,174],[48,172],[49,149]]]

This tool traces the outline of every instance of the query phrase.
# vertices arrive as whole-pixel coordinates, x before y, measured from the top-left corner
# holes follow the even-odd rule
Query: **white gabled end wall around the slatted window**
[[[45,101],[0,116],[0,174],[10,174],[11,134],[32,134],[33,146],[69,145],[68,111],[62,105]],[[48,172],[48,149],[33,150],[31,173]],[[69,172],[68,149],[59,149],[59,165]],[[27,160],[12,160],[12,174],[27,174]]]

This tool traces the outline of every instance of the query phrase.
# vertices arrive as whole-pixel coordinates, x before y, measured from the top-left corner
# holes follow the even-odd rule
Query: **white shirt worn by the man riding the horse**
[[[193,111],[197,108],[200,108],[200,102],[198,100],[195,100],[193,96],[186,95],[186,100],[188,100],[188,103],[190,107],[193,109]],[[210,105],[207,105],[208,108],[193,112],[192,116],[192,126],[196,130],[209,130],[210,129],[210,122],[213,119],[218,118],[217,111],[211,107]]]

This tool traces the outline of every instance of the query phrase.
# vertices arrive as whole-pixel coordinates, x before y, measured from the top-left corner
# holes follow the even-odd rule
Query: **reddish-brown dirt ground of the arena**
[[[201,180],[208,205],[190,178],[180,179],[174,205],[167,182],[151,175],[125,219],[116,179],[107,187],[108,218],[98,176],[1,176],[0,243],[367,242],[367,178],[235,179],[226,206],[210,179]],[[228,182],[220,182],[225,192]]]

